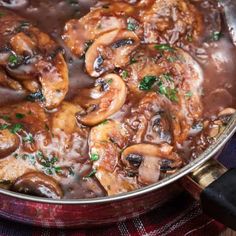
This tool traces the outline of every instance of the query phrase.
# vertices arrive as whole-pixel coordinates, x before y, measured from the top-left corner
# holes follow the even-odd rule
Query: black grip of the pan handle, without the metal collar
[[[203,211],[236,230],[236,169],[230,169],[200,194]]]

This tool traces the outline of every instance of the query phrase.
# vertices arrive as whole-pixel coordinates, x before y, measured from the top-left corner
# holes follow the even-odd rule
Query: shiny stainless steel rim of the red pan
[[[221,148],[233,136],[235,131],[236,131],[236,114],[232,117],[231,121],[229,122],[225,130],[222,132],[222,134],[219,136],[219,138],[211,146],[209,146],[208,149],[205,150],[197,159],[190,162],[188,165],[180,169],[177,173],[169,176],[168,178],[165,178],[156,184],[152,184],[152,185],[146,186],[141,189],[137,189],[132,192],[115,195],[111,197],[92,198],[92,199],[73,199],[73,200],[70,200],[70,199],[54,200],[54,199],[47,199],[47,198],[41,198],[41,197],[34,197],[34,196],[24,195],[24,194],[12,192],[9,190],[4,190],[4,189],[0,189],[0,194],[4,194],[4,195],[18,198],[21,200],[48,203],[48,204],[61,204],[61,205],[102,204],[102,203],[109,203],[109,202],[115,202],[115,201],[126,200],[129,198],[134,198],[143,194],[147,194],[154,190],[160,189],[168,184],[171,184],[175,182],[176,180],[182,178],[183,176],[187,175],[195,168],[201,166],[204,162],[212,158],[217,152],[221,150]]]

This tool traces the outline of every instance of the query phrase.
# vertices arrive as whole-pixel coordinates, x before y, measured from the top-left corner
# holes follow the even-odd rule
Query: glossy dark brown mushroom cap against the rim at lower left
[[[29,172],[16,179],[13,191],[39,197],[60,199],[63,191],[55,179],[40,172]]]

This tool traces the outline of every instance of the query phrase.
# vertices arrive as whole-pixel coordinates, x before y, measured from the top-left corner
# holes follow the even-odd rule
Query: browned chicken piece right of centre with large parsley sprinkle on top
[[[133,58],[135,63],[121,71],[130,91],[140,97],[150,91],[158,93],[147,95],[141,99],[138,108],[132,110],[130,122],[139,120],[142,127],[138,128],[136,123],[137,142],[141,142],[146,132],[149,133],[149,125],[156,127],[155,118],[162,120],[164,115],[171,120],[171,124],[167,122],[164,126],[173,130],[175,141],[182,143],[194,121],[202,114],[202,69],[188,53],[167,44],[143,46]],[[149,111],[152,115],[147,116]],[[148,133],[147,137],[151,138]],[[162,138],[171,142],[170,132],[166,134]],[[159,139],[152,139],[159,142]]]

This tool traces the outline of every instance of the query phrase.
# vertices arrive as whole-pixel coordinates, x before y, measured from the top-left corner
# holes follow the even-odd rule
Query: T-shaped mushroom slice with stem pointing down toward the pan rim
[[[175,170],[182,165],[182,159],[169,144],[130,146],[122,152],[121,161],[129,169],[138,169],[138,181],[144,185],[156,183],[163,167]]]

